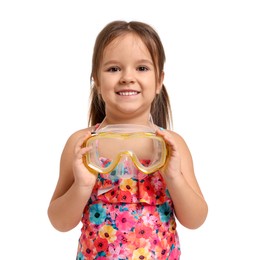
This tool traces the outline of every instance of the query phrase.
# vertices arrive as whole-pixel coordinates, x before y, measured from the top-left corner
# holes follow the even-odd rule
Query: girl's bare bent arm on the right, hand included
[[[179,222],[191,229],[201,226],[208,213],[207,203],[195,178],[190,151],[183,138],[171,131],[159,131],[168,144],[170,156],[162,176]]]

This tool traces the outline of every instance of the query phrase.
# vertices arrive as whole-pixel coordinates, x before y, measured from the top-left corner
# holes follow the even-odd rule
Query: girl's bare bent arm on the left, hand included
[[[87,130],[73,134],[61,155],[59,179],[48,208],[50,222],[59,231],[78,225],[96,182],[96,176],[82,162],[88,148],[81,145],[89,135]]]

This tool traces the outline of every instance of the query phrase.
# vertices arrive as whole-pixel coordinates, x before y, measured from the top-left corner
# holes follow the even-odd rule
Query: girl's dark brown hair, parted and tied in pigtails
[[[100,123],[105,117],[105,103],[99,96],[94,83],[98,79],[98,71],[102,60],[104,49],[117,37],[126,33],[134,33],[140,37],[150,52],[154,63],[157,80],[160,80],[165,62],[165,52],[157,32],[148,24],[131,21],[113,21],[107,24],[98,34],[92,57],[91,70],[91,93],[89,109],[89,125]],[[94,79],[94,80],[93,80]],[[153,122],[163,128],[170,128],[172,125],[172,112],[170,100],[165,86],[157,94],[151,105]]]

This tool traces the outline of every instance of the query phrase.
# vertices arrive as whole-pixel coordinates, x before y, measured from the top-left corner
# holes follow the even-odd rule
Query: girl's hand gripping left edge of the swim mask
[[[79,186],[90,187],[94,186],[97,180],[97,175],[91,173],[83,163],[83,156],[91,149],[91,147],[82,147],[85,140],[91,135],[91,132],[81,136],[75,145],[74,157],[72,162],[72,170],[75,178],[75,183]]]

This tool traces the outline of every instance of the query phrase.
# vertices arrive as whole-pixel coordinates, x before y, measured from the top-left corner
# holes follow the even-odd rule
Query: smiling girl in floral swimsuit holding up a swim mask
[[[69,137],[48,209],[59,231],[82,221],[77,259],[178,260],[176,219],[190,229],[206,219],[208,207],[190,151],[180,135],[168,130],[171,111],[163,85],[164,62],[160,38],[145,23],[114,21],[97,36],[90,127]],[[83,158],[95,148],[83,143],[92,132],[116,124],[154,127],[168,149],[165,165],[151,174],[140,170],[130,174],[132,163],[119,162],[123,172],[117,175],[115,170],[94,173]],[[134,149],[142,145],[135,144]],[[102,163],[106,167],[110,162]]]

